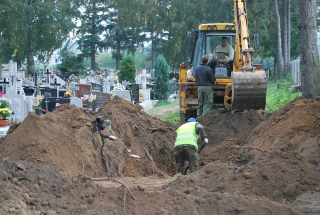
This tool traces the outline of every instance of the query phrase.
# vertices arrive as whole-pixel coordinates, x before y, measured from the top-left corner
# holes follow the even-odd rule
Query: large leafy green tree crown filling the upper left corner
[[[48,62],[52,52],[69,36],[78,5],[78,0],[4,0],[0,53],[9,54],[18,64],[26,58],[27,73],[32,74],[34,56]]]

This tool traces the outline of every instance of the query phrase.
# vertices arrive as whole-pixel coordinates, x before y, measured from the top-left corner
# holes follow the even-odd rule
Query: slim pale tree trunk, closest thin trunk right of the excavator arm
[[[277,78],[284,77],[283,75],[283,58],[282,58],[282,48],[281,48],[281,25],[280,16],[278,10],[278,1],[274,0],[275,15],[276,15],[276,71],[275,76]]]

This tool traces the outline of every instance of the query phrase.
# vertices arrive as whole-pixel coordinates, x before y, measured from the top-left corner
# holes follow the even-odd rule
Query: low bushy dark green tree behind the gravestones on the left
[[[67,50],[67,45],[65,45],[60,50],[60,60],[61,63],[56,67],[60,70],[62,77],[68,77],[71,74],[77,75],[80,70],[82,70],[83,58],[81,55],[75,55],[73,52]]]

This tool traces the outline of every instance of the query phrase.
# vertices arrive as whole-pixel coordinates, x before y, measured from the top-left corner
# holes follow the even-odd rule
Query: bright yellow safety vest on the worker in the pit
[[[196,150],[198,149],[196,140],[199,138],[199,134],[196,133],[195,123],[196,122],[187,122],[176,129],[174,148],[178,145],[188,144],[194,145]]]

